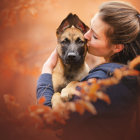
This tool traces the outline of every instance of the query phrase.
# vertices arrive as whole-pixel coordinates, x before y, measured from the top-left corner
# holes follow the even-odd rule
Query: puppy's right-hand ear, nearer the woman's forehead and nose
[[[83,34],[89,30],[89,27],[85,25],[76,14],[74,14],[74,26],[78,28]]]

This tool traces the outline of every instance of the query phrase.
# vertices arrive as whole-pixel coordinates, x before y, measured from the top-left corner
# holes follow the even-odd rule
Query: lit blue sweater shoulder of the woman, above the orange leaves
[[[89,74],[81,81],[86,81],[91,78],[106,79],[113,75],[115,69],[125,67],[126,65],[120,63],[103,63],[89,71]]]

